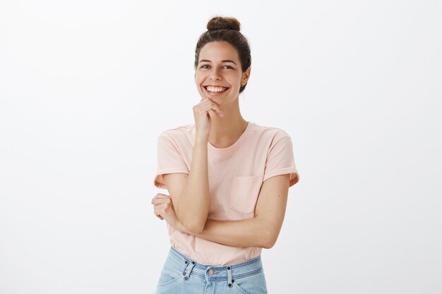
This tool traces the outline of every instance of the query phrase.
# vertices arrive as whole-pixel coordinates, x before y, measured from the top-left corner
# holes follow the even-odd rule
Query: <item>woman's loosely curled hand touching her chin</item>
[[[212,122],[210,121],[210,111],[223,117],[220,106],[209,98],[203,98],[193,106],[193,118],[195,119],[196,137],[202,140],[208,140]]]

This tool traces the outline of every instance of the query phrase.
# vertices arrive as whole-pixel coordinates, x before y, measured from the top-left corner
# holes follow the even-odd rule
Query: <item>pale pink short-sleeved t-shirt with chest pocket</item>
[[[189,173],[195,125],[165,130],[158,136],[157,188],[167,189],[164,173]],[[251,219],[261,185],[273,176],[289,173],[292,187],[299,180],[294,165],[292,140],[280,128],[249,121],[233,145],[214,147],[208,142],[209,213],[208,219],[235,221]],[[167,223],[170,244],[201,264],[226,265],[261,255],[261,247],[232,247],[175,230]]]

